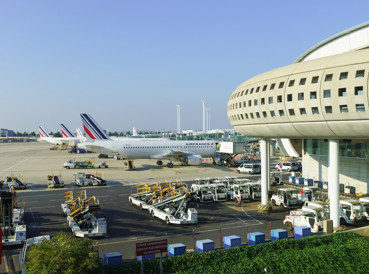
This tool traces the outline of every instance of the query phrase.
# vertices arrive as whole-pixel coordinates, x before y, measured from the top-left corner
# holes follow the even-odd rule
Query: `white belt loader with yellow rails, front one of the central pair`
[[[169,224],[196,224],[197,211],[195,208],[188,208],[187,197],[189,193],[186,188],[179,187],[173,189],[168,186],[166,189],[156,192],[153,195],[152,205],[148,208],[152,217],[158,217]]]

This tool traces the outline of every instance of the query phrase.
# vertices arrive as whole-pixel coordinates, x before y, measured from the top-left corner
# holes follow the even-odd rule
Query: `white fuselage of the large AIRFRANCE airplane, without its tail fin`
[[[218,153],[214,141],[94,141],[80,143],[78,148],[129,159],[173,159],[183,155],[215,157]],[[175,156],[173,156],[174,154]]]

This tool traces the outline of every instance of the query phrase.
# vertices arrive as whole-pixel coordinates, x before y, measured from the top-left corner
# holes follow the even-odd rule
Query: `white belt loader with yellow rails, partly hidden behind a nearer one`
[[[148,209],[152,205],[154,194],[167,187],[167,181],[161,183],[142,183],[132,186],[131,196],[128,199],[132,205],[137,205],[141,210]]]

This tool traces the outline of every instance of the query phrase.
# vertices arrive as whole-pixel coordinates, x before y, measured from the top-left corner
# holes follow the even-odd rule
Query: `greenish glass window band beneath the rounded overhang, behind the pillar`
[[[324,139],[304,139],[304,153],[328,155],[328,141]],[[339,157],[368,158],[369,142],[344,142],[339,140]]]

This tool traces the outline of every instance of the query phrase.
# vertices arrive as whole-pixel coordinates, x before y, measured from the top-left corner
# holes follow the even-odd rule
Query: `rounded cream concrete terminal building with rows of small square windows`
[[[293,64],[246,80],[227,103],[238,132],[267,143],[277,138],[281,151],[302,156],[303,175],[328,181],[329,192],[338,183],[369,192],[368,26],[340,32]]]

